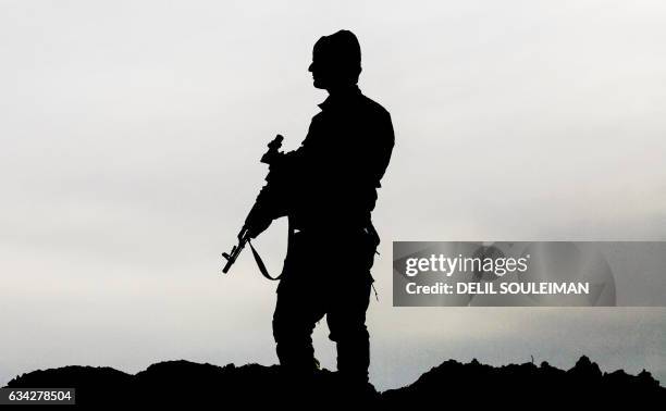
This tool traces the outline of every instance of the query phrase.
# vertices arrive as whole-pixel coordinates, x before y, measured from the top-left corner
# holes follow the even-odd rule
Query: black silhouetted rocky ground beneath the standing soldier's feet
[[[39,370],[12,379],[8,387],[75,387],[76,403],[104,406],[237,404],[246,407],[371,408],[497,406],[519,409],[551,407],[606,407],[632,409],[666,406],[666,388],[646,371],[602,373],[587,357],[570,370],[542,363],[491,366],[473,360],[448,360],[421,375],[414,384],[378,393],[371,385],[353,386],[335,373],[321,371],[307,378],[284,375],[280,368],[247,364],[217,366],[188,361],[150,365],[135,375],[111,368],[64,366]]]

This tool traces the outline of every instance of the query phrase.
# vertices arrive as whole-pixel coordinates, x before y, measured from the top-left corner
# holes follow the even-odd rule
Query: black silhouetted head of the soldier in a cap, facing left
[[[358,83],[360,45],[354,33],[340,30],[320,38],[314,43],[308,70],[312,73],[314,87],[329,91]]]

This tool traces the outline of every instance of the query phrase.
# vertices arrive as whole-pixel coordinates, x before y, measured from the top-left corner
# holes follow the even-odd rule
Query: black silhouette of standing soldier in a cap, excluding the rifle
[[[317,369],[311,334],[326,315],[330,338],[337,342],[340,374],[367,382],[366,310],[379,245],[370,213],[394,134],[388,112],[357,87],[360,57],[351,32],[317,41],[309,71],[314,87],[326,89],[329,97],[319,104],[321,112],[300,148],[271,164],[268,184],[245,226],[254,238],[272,220],[289,219],[289,247],[273,315],[283,368]]]

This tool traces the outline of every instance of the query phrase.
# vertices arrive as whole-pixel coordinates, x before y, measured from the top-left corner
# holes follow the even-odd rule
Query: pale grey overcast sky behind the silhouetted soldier
[[[249,256],[222,276],[220,253],[266,144],[297,147],[319,111],[311,48],[341,28],[396,130],[374,213],[378,388],[530,354],[666,381],[664,309],[391,303],[392,240],[666,239],[665,21],[661,0],[0,0],[0,385],[66,364],[276,362],[275,285]],[[273,272],[285,236],[279,222],[257,241]]]

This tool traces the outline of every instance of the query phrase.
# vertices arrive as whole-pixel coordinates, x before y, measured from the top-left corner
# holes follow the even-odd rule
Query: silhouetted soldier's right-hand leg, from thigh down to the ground
[[[359,383],[368,381],[370,365],[366,310],[371,287],[371,277],[344,282],[340,286],[338,300],[326,313],[330,338],[337,342],[337,371],[344,378]]]

